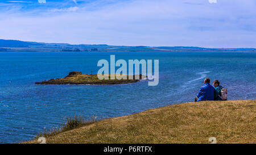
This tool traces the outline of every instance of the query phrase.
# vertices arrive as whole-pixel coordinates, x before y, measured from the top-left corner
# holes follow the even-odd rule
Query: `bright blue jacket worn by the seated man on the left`
[[[200,87],[199,93],[197,96],[197,102],[202,100],[214,100],[214,87],[210,83],[205,83],[203,87]]]

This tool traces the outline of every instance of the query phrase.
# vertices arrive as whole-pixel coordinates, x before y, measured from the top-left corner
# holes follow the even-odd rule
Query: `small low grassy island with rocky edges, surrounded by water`
[[[122,75],[121,75],[122,76]],[[127,76],[127,75],[125,75]],[[147,76],[139,75],[139,79],[98,79],[97,74],[82,74],[81,72],[70,72],[65,78],[49,79],[48,81],[35,82],[37,85],[114,85],[114,84],[125,84],[135,83],[140,79],[146,79]]]

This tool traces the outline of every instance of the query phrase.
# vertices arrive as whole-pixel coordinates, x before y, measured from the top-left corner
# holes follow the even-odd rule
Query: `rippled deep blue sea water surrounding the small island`
[[[100,59],[159,60],[159,85],[35,85],[69,72],[96,74]],[[254,52],[0,52],[0,143],[30,140],[61,118],[129,115],[191,102],[205,77],[218,79],[229,99],[255,99]]]

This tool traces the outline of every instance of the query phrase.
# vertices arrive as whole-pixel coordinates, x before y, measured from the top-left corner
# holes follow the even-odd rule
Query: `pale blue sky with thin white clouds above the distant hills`
[[[256,0],[0,0],[0,39],[256,48],[255,8]]]

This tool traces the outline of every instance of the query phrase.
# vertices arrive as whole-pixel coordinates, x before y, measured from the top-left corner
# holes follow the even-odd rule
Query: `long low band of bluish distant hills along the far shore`
[[[36,43],[19,40],[0,39],[0,52],[149,52],[149,51],[256,51],[255,48],[201,48],[201,47],[146,47],[146,46],[113,46],[65,43]]]

